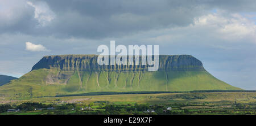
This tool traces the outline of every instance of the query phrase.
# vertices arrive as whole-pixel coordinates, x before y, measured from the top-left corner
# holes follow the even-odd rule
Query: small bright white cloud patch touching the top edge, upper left
[[[40,2],[40,4],[34,4],[28,1],[27,4],[35,8],[34,18],[38,20],[39,26],[44,27],[55,18],[55,14],[49,8],[47,3]]]

